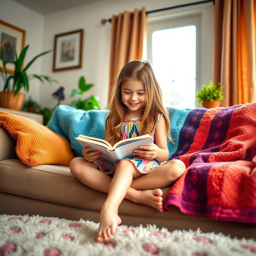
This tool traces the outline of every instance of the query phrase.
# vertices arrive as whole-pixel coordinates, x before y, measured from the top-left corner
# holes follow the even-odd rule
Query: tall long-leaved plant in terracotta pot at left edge
[[[4,71],[0,70],[0,76],[4,82],[4,90],[0,92],[0,103],[3,108],[20,110],[25,100],[25,94],[23,92],[20,92],[20,90],[23,88],[25,92],[28,92],[29,81],[34,78],[40,80],[40,82],[57,82],[56,80],[52,80],[49,76],[27,73],[28,68],[34,63],[37,58],[49,53],[51,50],[36,55],[32,60],[30,60],[30,62],[28,62],[28,64],[24,68],[22,68],[28,47],[29,45],[25,46],[20,52],[19,56],[15,53],[14,60],[6,60],[4,58],[4,53],[1,48]],[[9,76],[7,75],[6,70],[6,64],[8,63],[14,64],[14,74]]]

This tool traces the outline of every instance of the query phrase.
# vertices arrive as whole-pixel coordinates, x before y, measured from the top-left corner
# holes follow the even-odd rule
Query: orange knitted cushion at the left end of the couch
[[[68,166],[74,154],[68,140],[28,118],[0,111],[0,126],[16,140],[16,154],[23,164]]]

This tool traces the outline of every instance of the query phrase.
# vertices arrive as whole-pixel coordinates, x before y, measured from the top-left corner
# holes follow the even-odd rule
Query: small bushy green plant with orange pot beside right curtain
[[[222,88],[224,86],[220,86],[220,82],[218,82],[218,86],[214,84],[210,80],[209,84],[204,84],[203,87],[196,94],[196,98],[198,103],[202,102],[202,106],[204,108],[217,108],[220,106],[221,100],[224,99]]]

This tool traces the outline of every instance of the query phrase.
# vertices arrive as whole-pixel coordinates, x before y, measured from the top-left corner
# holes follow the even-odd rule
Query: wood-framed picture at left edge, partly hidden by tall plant
[[[15,52],[19,55],[25,44],[26,31],[0,20],[0,43],[3,55],[0,54],[0,70],[4,71],[3,57],[6,60],[14,60]],[[14,64],[6,64],[8,73],[14,73]]]

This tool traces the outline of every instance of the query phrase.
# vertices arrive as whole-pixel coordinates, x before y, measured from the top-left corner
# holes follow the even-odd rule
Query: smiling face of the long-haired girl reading
[[[146,104],[146,91],[142,83],[138,80],[126,80],[121,86],[121,94],[127,114],[140,116],[141,108]]]

